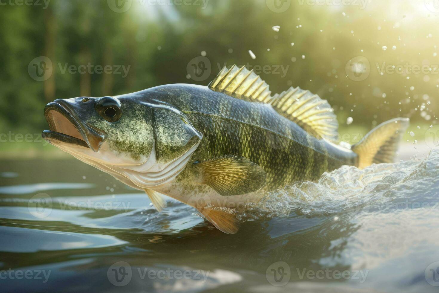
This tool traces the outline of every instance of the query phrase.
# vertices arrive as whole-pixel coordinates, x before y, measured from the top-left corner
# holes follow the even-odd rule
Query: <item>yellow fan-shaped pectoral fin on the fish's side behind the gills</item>
[[[201,183],[223,196],[255,192],[266,182],[265,171],[256,163],[241,156],[222,156],[199,163]]]

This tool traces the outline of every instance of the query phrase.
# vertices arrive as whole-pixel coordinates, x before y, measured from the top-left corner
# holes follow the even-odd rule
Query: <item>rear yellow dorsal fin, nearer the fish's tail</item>
[[[334,110],[317,94],[299,87],[290,87],[275,94],[270,101],[273,109],[317,138],[338,143],[338,121]]]

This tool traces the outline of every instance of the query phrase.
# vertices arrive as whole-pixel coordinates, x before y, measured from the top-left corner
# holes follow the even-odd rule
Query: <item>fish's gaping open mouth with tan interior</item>
[[[83,127],[62,105],[51,102],[44,109],[47,123],[50,130],[44,130],[41,136],[51,141],[61,141],[67,144],[79,145],[90,148],[86,142],[86,135],[83,134]]]

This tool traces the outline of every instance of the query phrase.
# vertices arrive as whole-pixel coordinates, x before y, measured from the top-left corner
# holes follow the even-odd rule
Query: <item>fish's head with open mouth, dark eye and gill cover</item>
[[[132,95],[57,99],[44,114],[44,139],[137,189],[175,178],[202,139],[180,110]]]

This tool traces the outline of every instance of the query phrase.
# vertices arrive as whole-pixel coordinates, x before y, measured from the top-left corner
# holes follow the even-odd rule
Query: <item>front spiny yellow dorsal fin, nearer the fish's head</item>
[[[209,83],[209,88],[243,100],[268,102],[271,99],[268,84],[245,66],[233,65],[230,69],[224,66]]]

